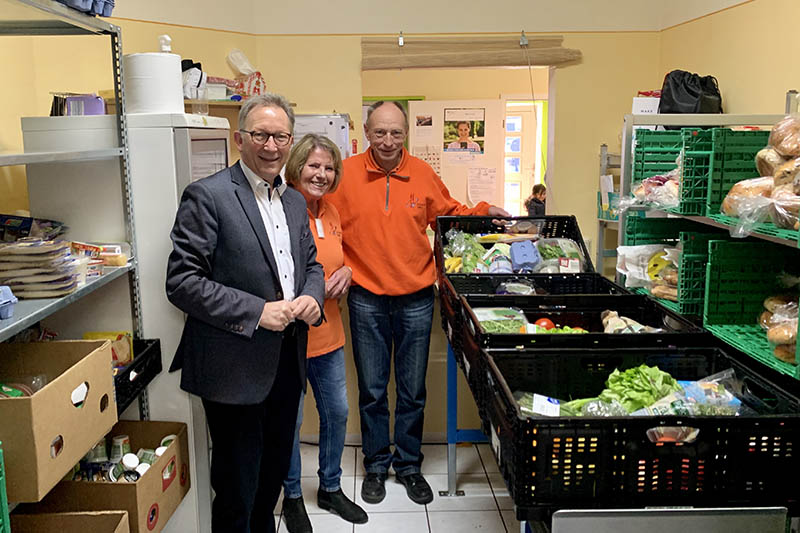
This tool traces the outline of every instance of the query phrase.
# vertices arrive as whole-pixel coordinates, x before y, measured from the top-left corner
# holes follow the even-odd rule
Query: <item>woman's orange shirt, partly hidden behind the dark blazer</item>
[[[317,245],[317,261],[325,271],[325,281],[331,274],[344,265],[344,252],[342,252],[342,223],[339,221],[339,212],[325,198],[319,201],[319,213],[316,218],[308,210],[308,224],[314,243]],[[317,222],[319,220],[319,222]],[[344,346],[344,327],[342,314],[339,310],[339,301],[336,299],[325,300],[325,318],[322,324],[308,330],[308,357],[317,357],[332,352]]]

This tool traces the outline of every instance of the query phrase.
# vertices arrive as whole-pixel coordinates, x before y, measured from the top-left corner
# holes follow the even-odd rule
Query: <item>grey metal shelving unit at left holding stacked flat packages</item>
[[[136,233],[133,225],[133,198],[128,163],[128,133],[125,118],[125,87],[122,76],[122,32],[119,26],[102,18],[80,13],[54,0],[0,0],[0,35],[5,36],[69,36],[97,35],[110,39],[112,58],[112,78],[114,94],[119,105],[116,108],[117,146],[113,148],[92,149],[86,147],[72,151],[32,151],[0,154],[0,166],[71,164],[75,162],[119,159],[121,172],[121,195],[123,198],[123,218],[125,238],[131,247],[131,260],[125,267],[105,269],[102,276],[80,287],[74,293],[62,298],[20,301],[11,320],[0,323],[0,341],[49,317],[70,304],[107,285],[111,281],[128,274],[131,316],[134,337],[142,337],[141,298],[136,253]],[[44,167],[43,167],[44,168]],[[98,177],[102,179],[102,177]],[[62,189],[63,183],[59,184]],[[54,189],[56,191],[58,189]],[[63,190],[63,189],[62,189]],[[149,409],[146,393],[140,397],[140,415],[148,418]]]

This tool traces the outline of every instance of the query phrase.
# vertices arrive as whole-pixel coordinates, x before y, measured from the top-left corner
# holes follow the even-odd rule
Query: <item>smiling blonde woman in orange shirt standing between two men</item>
[[[341,489],[342,452],[347,431],[347,383],[344,366],[344,327],[339,299],[347,293],[353,271],[344,264],[339,213],[325,195],[336,190],[342,177],[339,148],[327,137],[309,133],[294,145],[286,163],[286,181],[308,206],[308,223],[317,245],[317,260],[325,270],[325,318],[308,332],[308,381],[319,412],[319,490],[317,505],[348,522],[364,524],[367,513]],[[311,533],[311,521],[300,486],[300,425],[303,400],[297,412],[289,474],[283,482],[283,518],[289,533]]]

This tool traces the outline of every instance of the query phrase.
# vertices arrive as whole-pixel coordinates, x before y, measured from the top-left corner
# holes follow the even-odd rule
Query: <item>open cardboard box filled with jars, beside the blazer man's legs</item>
[[[167,435],[177,439],[135,483],[62,481],[38,504],[22,505],[15,512],[128,511],[131,533],[158,533],[189,492],[189,438],[186,424],[122,420],[108,434],[128,435],[131,450],[157,448]]]

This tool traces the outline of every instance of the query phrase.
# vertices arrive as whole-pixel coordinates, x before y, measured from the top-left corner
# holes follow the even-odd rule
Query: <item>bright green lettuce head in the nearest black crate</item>
[[[658,367],[647,365],[629,368],[624,372],[615,369],[608,377],[606,387],[599,398],[604,402],[617,400],[629,413],[681,390],[681,386],[672,376]]]

